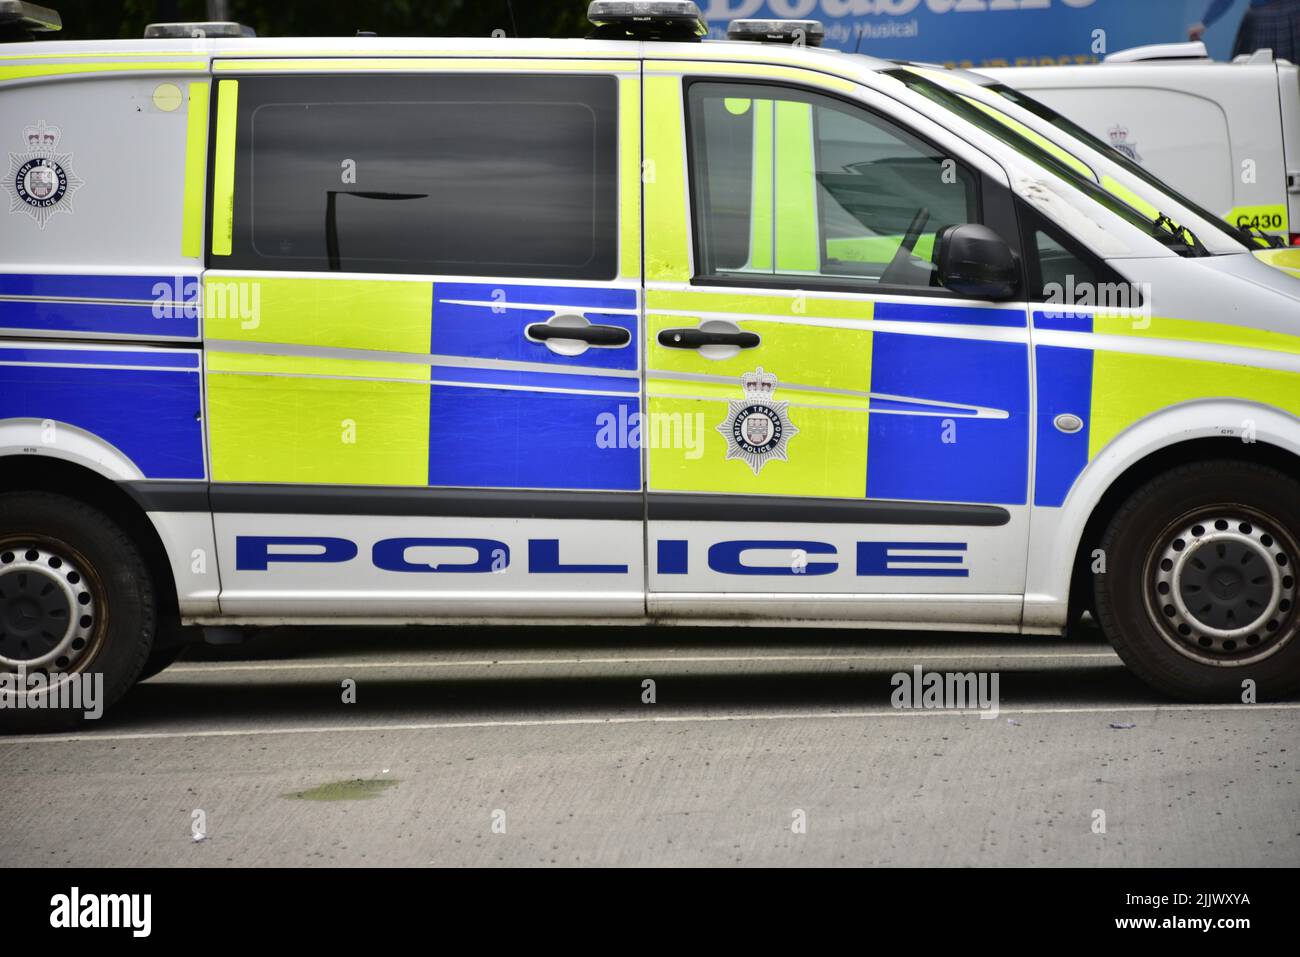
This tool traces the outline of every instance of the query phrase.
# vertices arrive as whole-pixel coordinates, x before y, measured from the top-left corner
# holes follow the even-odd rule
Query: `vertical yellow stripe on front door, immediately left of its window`
[[[646,278],[690,278],[686,239],[686,178],[682,146],[681,81],[645,81],[645,242]]]

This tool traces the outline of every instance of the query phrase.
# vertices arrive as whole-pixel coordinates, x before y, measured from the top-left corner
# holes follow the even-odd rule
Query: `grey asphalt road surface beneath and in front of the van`
[[[997,716],[893,707],[916,666]],[[1297,732],[1087,631],[304,628],[0,739],[0,866],[1296,866]]]

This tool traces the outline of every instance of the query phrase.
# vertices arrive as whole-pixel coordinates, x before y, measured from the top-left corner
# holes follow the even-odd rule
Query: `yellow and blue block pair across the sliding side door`
[[[242,283],[255,316],[217,307]],[[641,488],[597,442],[641,408],[636,289],[209,274],[205,312],[216,481]],[[629,342],[556,355],[526,337],[556,313]]]

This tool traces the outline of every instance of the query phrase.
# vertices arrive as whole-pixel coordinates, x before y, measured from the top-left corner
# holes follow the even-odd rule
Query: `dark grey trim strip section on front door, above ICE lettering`
[[[651,521],[793,521],[818,525],[1005,525],[1006,508],[992,505],[867,502],[785,495],[650,495]]]

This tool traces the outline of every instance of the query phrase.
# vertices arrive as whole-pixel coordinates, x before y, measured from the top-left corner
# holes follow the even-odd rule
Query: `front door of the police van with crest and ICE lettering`
[[[1026,307],[932,261],[1010,209],[1005,178],[816,81],[655,79],[647,117],[684,107],[693,247],[673,274],[647,185],[651,612],[1017,624]],[[647,126],[651,168],[668,138]]]

